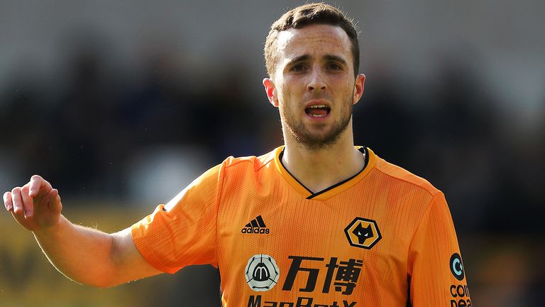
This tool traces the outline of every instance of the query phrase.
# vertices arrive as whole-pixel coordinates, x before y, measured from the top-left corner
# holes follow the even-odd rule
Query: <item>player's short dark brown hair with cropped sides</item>
[[[270,31],[265,41],[265,67],[269,77],[275,73],[277,63],[276,42],[278,33],[286,31],[289,28],[304,28],[312,24],[328,24],[341,27],[351,41],[351,51],[354,65],[354,75],[358,75],[360,67],[360,46],[358,43],[358,31],[353,24],[353,20],[348,18],[341,10],[334,6],[324,3],[304,4],[298,6],[272,23]]]

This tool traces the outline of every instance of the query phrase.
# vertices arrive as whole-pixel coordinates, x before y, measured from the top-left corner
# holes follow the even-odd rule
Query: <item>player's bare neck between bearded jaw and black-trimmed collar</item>
[[[365,158],[354,148],[351,127],[334,143],[309,149],[285,134],[282,164],[313,193],[329,188],[363,169]]]

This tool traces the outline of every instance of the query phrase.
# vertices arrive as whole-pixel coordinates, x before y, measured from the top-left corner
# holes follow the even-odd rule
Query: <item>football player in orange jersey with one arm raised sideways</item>
[[[224,307],[471,306],[444,194],[353,144],[365,75],[351,19],[298,6],[272,24],[264,53],[282,146],[226,158],[113,234],[67,220],[40,176],[4,193],[6,210],[82,284],[211,264]]]

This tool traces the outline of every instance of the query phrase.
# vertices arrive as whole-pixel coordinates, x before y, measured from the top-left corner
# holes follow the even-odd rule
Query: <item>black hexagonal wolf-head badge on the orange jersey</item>
[[[344,233],[348,239],[348,243],[353,247],[361,247],[363,249],[371,249],[382,239],[377,222],[363,217],[356,217],[346,226]]]

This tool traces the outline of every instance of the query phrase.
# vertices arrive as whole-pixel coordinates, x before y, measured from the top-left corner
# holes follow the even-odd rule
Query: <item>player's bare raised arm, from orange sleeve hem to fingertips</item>
[[[62,216],[58,191],[40,176],[4,193],[4,206],[34,233],[50,262],[74,281],[106,287],[161,273],[138,252],[130,228],[109,235]]]

